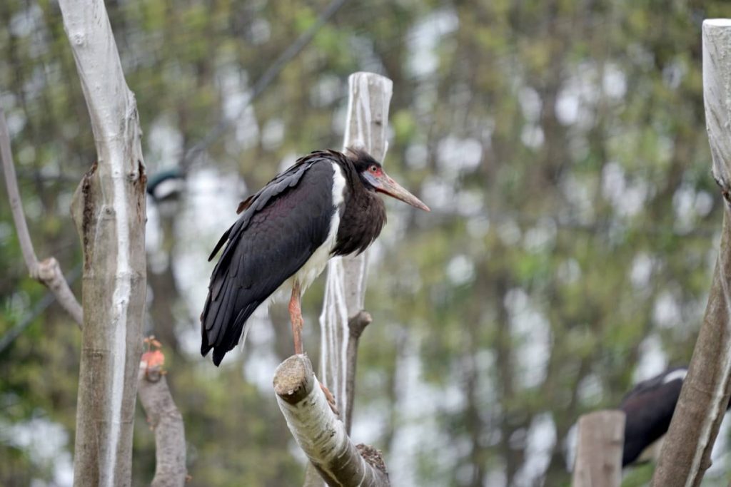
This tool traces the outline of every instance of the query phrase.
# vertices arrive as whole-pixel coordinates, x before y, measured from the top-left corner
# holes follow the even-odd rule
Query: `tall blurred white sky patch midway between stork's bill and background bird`
[[[505,295],[510,315],[510,334],[518,344],[518,381],[523,388],[538,386],[545,379],[550,350],[550,323],[535,309],[526,291],[514,288]]]

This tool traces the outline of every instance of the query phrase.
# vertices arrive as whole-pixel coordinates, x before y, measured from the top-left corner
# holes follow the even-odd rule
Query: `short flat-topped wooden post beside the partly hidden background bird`
[[[622,480],[624,412],[596,411],[579,418],[572,487],[619,487]]]

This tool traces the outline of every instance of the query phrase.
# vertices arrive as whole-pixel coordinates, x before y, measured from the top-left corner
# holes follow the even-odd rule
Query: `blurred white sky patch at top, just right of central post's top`
[[[452,9],[439,9],[418,22],[407,34],[409,71],[416,77],[426,77],[439,67],[436,53],[442,37],[459,26],[459,18]]]

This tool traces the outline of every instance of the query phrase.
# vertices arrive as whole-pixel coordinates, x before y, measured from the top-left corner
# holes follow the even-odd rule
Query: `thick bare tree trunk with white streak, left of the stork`
[[[129,486],[145,312],[145,167],[135,96],[102,0],[61,0],[98,160],[74,195],[83,243],[75,486]]]

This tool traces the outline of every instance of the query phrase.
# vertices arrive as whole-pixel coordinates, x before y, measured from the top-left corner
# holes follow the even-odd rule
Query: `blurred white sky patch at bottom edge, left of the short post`
[[[526,461],[515,474],[516,487],[532,487],[539,484],[550,463],[553,446],[556,445],[556,425],[550,413],[533,417],[526,438]]]

